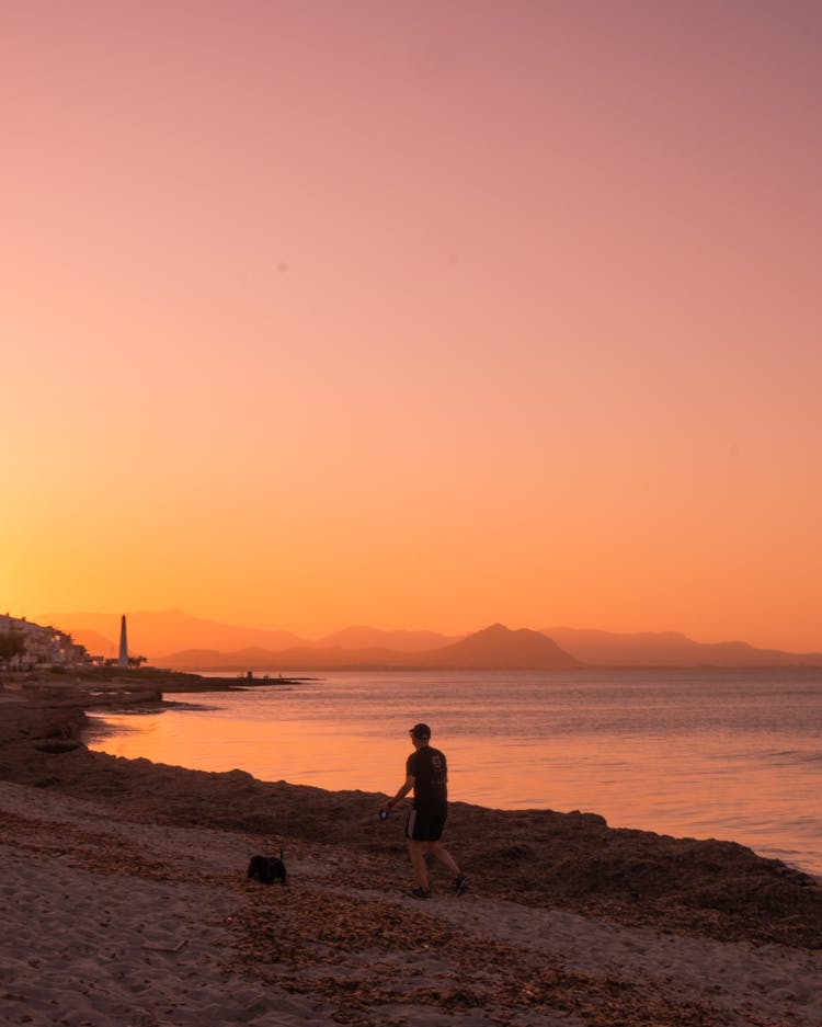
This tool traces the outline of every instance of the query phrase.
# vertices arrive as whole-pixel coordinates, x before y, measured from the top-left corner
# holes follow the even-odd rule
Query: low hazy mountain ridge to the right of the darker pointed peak
[[[620,635],[581,628],[546,628],[558,644],[595,666],[820,666],[822,653],[755,649],[747,642],[696,642],[676,631]]]

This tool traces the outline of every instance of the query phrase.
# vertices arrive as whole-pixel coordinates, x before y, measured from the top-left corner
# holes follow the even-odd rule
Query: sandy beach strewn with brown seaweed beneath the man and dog
[[[0,1024],[822,1023],[822,888],[775,860],[455,803],[471,888],[418,902],[381,796],[91,753],[89,701],[0,693]]]

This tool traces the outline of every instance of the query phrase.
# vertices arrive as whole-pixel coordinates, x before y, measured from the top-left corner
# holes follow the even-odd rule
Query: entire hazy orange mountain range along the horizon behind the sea
[[[119,616],[47,614],[92,653],[117,652]],[[512,631],[492,625],[467,637],[436,631],[351,627],[319,639],[247,628],[180,611],[127,614],[129,651],[175,670],[333,670],[354,667],[532,670],[587,666],[822,666],[822,653],[756,649],[747,642],[697,642],[675,631],[618,634],[553,627]]]

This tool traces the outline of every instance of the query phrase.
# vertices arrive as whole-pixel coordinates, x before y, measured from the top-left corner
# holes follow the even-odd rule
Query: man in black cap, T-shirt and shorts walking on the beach
[[[390,810],[413,789],[414,807],[406,825],[408,853],[416,880],[416,888],[411,894],[415,899],[431,898],[429,868],[425,864],[425,856],[431,855],[453,875],[454,888],[461,895],[467,886],[466,876],[450,853],[439,844],[448,815],[448,766],[445,754],[429,744],[431,728],[426,723],[414,724],[409,733],[414,751],[406,762],[406,780],[397,795],[386,802],[386,809]]]

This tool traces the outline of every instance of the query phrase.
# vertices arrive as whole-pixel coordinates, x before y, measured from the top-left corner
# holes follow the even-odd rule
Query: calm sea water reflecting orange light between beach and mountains
[[[392,794],[427,721],[454,800],[601,813],[822,875],[822,672],[329,673],[106,716],[91,748]]]

